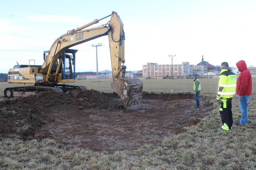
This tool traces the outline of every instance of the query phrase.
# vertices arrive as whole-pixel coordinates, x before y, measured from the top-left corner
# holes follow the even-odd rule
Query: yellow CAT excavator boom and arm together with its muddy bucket
[[[109,23],[96,28],[83,30],[109,16],[111,16]],[[61,59],[62,53],[68,48],[108,35],[113,74],[111,87],[124,101],[127,111],[140,109],[142,106],[142,82],[136,78],[125,78],[125,36],[123,23],[116,12],[112,12],[111,15],[104,18],[95,19],[91,23],[68,31],[68,33],[63,34],[54,41],[45,58],[44,64],[40,68],[40,72],[44,75],[44,83],[51,83],[52,80],[56,80],[56,77],[54,77],[56,75],[51,73],[52,67],[59,58]]]

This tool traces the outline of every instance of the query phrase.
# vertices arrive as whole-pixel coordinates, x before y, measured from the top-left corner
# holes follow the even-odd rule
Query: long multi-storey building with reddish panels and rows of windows
[[[161,64],[147,63],[142,66],[142,77],[164,77],[169,76],[185,76],[192,74],[193,65],[189,65],[189,62],[182,62],[182,64]]]

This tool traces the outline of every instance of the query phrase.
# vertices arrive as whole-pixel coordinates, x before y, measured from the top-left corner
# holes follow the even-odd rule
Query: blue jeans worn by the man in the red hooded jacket
[[[242,98],[238,96],[239,108],[242,112],[240,124],[247,124],[248,122],[248,103],[251,96],[242,95]]]

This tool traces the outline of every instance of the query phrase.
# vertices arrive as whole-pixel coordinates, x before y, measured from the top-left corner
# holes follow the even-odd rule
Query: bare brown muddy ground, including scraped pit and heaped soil
[[[143,106],[124,112],[118,96],[95,90],[44,92],[0,102],[0,138],[54,138],[60,146],[124,150],[158,142],[197,124],[213,109],[205,97],[195,109],[191,93],[143,92]]]

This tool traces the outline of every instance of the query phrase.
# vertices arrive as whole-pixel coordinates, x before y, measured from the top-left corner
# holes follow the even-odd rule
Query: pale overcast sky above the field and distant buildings
[[[177,1],[4,1],[1,0],[0,73],[16,61],[43,64],[43,51],[68,30],[116,11],[124,23],[126,70],[141,70],[147,62],[173,64],[204,60],[213,65],[245,60],[256,67],[255,0]],[[108,22],[101,21],[93,27]],[[72,47],[76,71],[111,70],[108,36]]]

